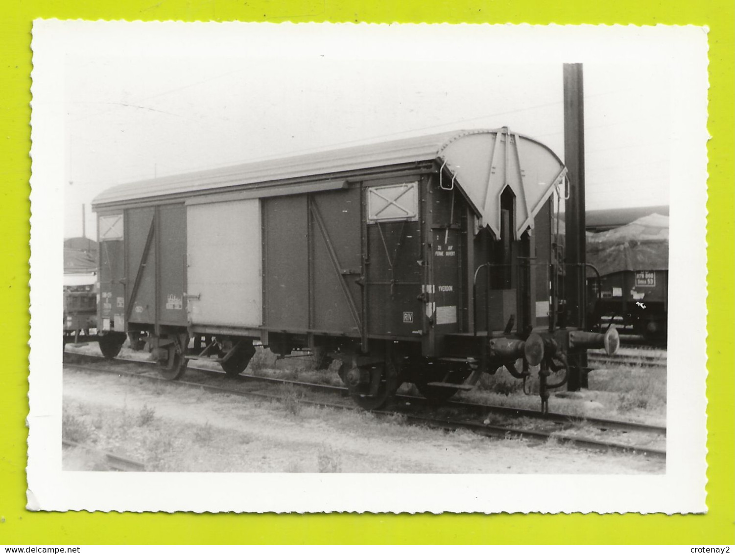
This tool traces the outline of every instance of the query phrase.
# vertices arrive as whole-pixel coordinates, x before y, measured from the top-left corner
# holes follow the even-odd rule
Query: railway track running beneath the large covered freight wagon
[[[78,361],[85,363],[73,363],[71,358],[77,358]],[[137,367],[137,371],[125,370],[126,374],[136,377],[143,377],[151,380],[159,380],[164,383],[171,383],[172,386],[187,386],[193,388],[204,389],[215,394],[234,394],[243,397],[261,397],[268,399],[279,399],[279,394],[273,391],[273,386],[293,386],[295,388],[309,389],[321,394],[318,398],[298,399],[299,402],[306,405],[317,405],[323,408],[334,408],[340,410],[358,410],[352,402],[334,402],[330,397],[347,397],[348,391],[344,387],[325,385],[322,383],[304,383],[301,381],[277,379],[273,377],[263,377],[254,375],[238,375],[237,377],[228,377],[221,371],[215,369],[206,369],[201,367],[190,367],[189,370],[194,372],[191,374],[194,380],[177,380],[168,381],[162,379],[157,374],[155,363],[144,361],[132,361],[115,359],[106,361],[104,358],[93,355],[76,354],[65,355],[64,365],[76,369],[94,370],[103,372],[115,372],[116,368],[126,366],[129,369]],[[107,362],[108,369],[102,369],[98,366],[101,361]],[[112,367],[110,368],[110,364]],[[212,385],[209,380],[226,380],[226,386]],[[253,385],[262,384],[265,388],[253,388]],[[248,387],[244,390],[242,387]],[[270,390],[269,390],[270,389]],[[576,447],[593,449],[593,450],[615,450],[623,452],[637,452],[656,458],[665,458],[665,450],[659,448],[650,448],[634,444],[625,444],[620,441],[600,441],[595,438],[584,438],[569,436],[570,430],[580,425],[595,427],[598,430],[614,430],[622,433],[643,433],[645,435],[665,436],[666,428],[656,425],[644,425],[636,422],[622,422],[612,419],[585,418],[579,419],[562,413],[543,414],[537,411],[524,410],[520,408],[508,408],[505,406],[494,406],[485,404],[474,404],[469,402],[445,402],[437,407],[431,405],[429,401],[423,397],[414,397],[409,395],[398,395],[395,403],[390,410],[374,411],[376,416],[395,416],[400,413],[406,422],[415,425],[424,425],[427,427],[440,428],[443,430],[467,429],[472,430],[483,436],[496,438],[530,438],[540,441],[548,441],[553,438],[561,443],[573,444]],[[527,425],[509,426],[509,425],[491,425],[490,418],[486,416],[490,413],[500,414],[514,419],[526,419],[539,422],[546,425],[545,429],[532,429]]]

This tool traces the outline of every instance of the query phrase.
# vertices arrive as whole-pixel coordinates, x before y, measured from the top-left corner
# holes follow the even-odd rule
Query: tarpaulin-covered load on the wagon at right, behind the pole
[[[669,269],[669,218],[652,213],[623,227],[587,233],[587,263],[600,275]],[[588,271],[588,277],[594,272]]]

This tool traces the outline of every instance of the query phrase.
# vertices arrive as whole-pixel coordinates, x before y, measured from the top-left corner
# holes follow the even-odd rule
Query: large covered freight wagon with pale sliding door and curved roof
[[[310,350],[365,408],[404,382],[442,399],[540,364],[545,402],[567,352],[617,347],[558,325],[565,173],[503,128],[117,186],[93,203],[101,347],[142,333],[172,379],[198,356],[243,372],[257,341]]]

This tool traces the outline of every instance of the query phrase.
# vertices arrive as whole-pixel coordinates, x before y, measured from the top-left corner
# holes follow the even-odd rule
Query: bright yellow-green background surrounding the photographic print
[[[34,18],[709,26],[709,513],[417,516],[32,513],[26,503]],[[0,7],[0,544],[733,544],[734,5],[725,0],[5,0]],[[686,324],[672,322],[671,324]]]

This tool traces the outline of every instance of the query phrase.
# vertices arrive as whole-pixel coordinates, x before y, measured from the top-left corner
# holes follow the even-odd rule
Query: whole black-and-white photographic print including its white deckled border
[[[33,50],[29,508],[706,511],[706,29]]]

